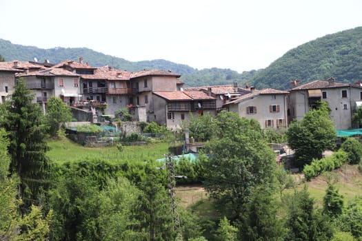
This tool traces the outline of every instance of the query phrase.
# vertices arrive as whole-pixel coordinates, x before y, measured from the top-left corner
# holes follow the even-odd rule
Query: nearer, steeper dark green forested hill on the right
[[[299,45],[258,72],[252,83],[287,90],[296,78],[308,83],[329,77],[345,83],[362,79],[362,27]]]

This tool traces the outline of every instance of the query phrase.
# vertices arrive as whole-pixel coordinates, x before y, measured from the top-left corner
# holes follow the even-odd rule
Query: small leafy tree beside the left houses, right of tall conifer
[[[72,112],[61,98],[50,97],[46,109],[46,124],[49,127],[50,136],[57,136],[59,125],[72,121]]]

